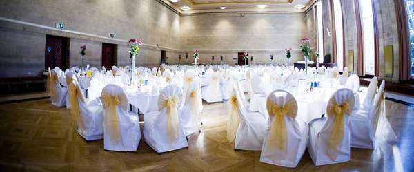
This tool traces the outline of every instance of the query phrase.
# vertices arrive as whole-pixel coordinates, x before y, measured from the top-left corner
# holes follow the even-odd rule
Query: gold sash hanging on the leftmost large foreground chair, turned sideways
[[[66,77],[66,80],[68,80],[68,78],[70,77]],[[74,129],[77,129],[77,127],[79,127],[79,129],[81,129],[81,132],[83,133],[85,125],[83,125],[83,120],[81,120],[81,109],[79,109],[79,100],[81,100],[81,102],[83,103],[85,103],[85,100],[83,100],[79,84],[75,85],[74,81],[68,83],[68,92],[70,101],[70,116],[72,117],[72,126]]]

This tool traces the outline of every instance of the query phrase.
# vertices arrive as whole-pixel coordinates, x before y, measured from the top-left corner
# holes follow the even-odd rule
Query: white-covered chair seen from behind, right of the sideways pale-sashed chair
[[[282,89],[270,93],[266,107],[270,118],[260,162],[295,168],[304,155],[309,127],[297,116],[293,94]]]

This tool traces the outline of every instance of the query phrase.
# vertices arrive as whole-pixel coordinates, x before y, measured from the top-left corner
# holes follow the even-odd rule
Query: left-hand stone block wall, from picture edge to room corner
[[[118,46],[119,66],[130,64],[129,39],[144,43],[136,64],[145,67],[159,66],[161,50],[175,52],[180,47],[180,16],[154,0],[5,0],[0,1],[0,17],[13,20],[0,22],[0,66],[7,69],[0,77],[28,76],[28,72],[32,72],[31,76],[41,76],[46,34],[70,38],[71,67],[81,64],[81,45],[90,51],[84,63],[98,68],[101,68],[102,42]],[[30,25],[26,28],[24,22]],[[52,34],[57,22],[64,23],[65,28],[59,34]],[[100,37],[91,41],[68,36],[66,32]],[[115,38],[104,39],[109,33],[115,34]],[[19,72],[14,72],[17,69]]]

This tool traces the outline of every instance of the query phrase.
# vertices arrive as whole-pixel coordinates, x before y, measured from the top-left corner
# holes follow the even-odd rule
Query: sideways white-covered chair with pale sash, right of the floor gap
[[[259,151],[262,150],[266,133],[266,117],[259,112],[248,111],[244,108],[237,87],[233,86],[230,96],[230,113],[227,122],[227,140],[235,140],[237,149]]]

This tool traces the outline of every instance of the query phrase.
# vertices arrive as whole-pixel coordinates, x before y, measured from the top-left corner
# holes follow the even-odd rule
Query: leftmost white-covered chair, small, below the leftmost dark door
[[[55,69],[51,70],[50,89],[52,93],[52,105],[55,105],[57,107],[66,106],[66,95],[68,94],[68,89],[65,87],[61,87]]]

